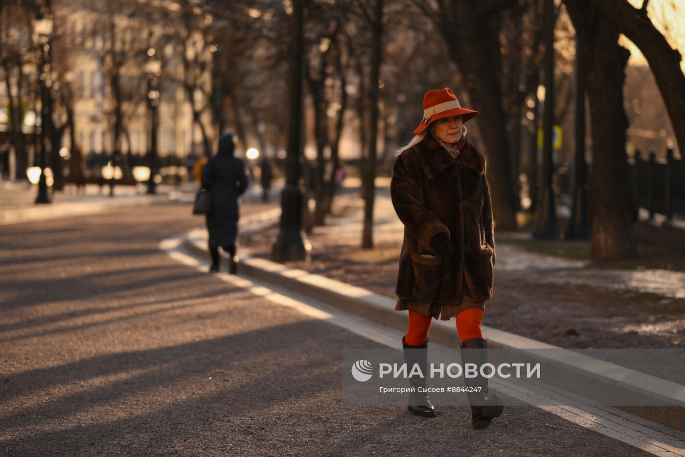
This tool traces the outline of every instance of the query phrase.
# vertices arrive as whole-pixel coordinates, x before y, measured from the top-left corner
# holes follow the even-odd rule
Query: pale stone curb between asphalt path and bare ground
[[[245,229],[250,225],[249,222],[245,224]],[[202,229],[190,231],[184,237],[183,246],[194,254],[207,257],[206,237],[203,233]],[[384,326],[398,330],[406,329],[406,314],[395,311],[396,300],[361,287],[290,268],[282,263],[249,256],[240,257],[239,274],[297,291]],[[431,341],[458,348],[460,341],[453,324],[453,321],[434,321],[431,328]],[[565,350],[496,328],[483,326],[482,330],[484,337],[488,340],[488,347],[522,350],[526,352],[527,357],[541,362],[549,362],[551,359],[545,356],[546,351],[536,350],[556,349],[555,354],[561,353],[562,356],[555,357],[553,360],[558,369],[554,381],[566,389],[573,390],[582,385],[585,395],[597,400],[612,397],[618,391],[621,395],[636,398],[638,404],[663,404],[666,399],[675,399],[685,404],[685,387],[675,382],[662,380],[579,352]],[[400,342],[397,343],[399,347]],[[651,389],[646,389],[645,385],[649,385]],[[672,403],[673,400],[670,402]],[[685,406],[616,406],[616,408],[676,430],[685,431]]]

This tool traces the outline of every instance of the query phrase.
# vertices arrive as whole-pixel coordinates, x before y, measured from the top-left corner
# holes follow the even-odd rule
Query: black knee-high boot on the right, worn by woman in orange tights
[[[480,372],[482,365],[488,363],[487,348],[487,341],[483,338],[471,338],[461,343],[464,373],[466,372],[466,363],[475,364],[477,372],[475,378],[464,376],[466,387],[472,387],[475,390],[473,393],[467,393],[469,404],[471,404],[471,423],[475,430],[488,428],[491,421],[501,415],[504,410],[504,402],[499,395],[488,397],[488,378],[482,376]]]

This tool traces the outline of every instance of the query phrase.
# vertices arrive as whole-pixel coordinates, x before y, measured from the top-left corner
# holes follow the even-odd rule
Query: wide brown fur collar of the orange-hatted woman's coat
[[[433,135],[426,135],[423,141],[414,146],[414,151],[416,151],[416,155],[419,157],[423,171],[429,178],[438,176],[440,172],[454,164],[455,161],[473,170],[476,174],[485,174],[486,171],[485,156],[469,142],[469,138],[466,138],[464,148],[456,159],[453,159],[445,151],[445,148],[436,142]]]

